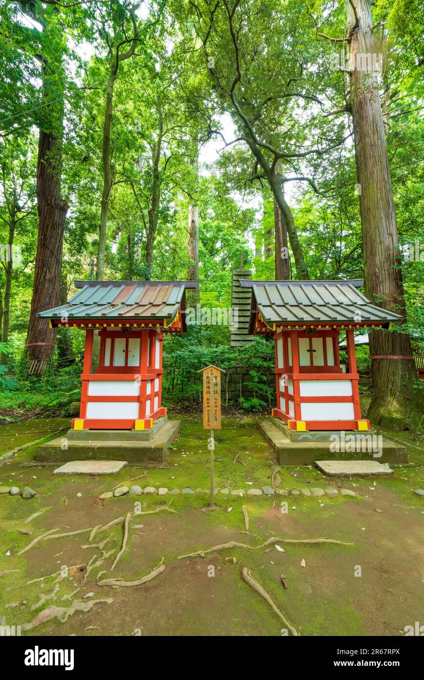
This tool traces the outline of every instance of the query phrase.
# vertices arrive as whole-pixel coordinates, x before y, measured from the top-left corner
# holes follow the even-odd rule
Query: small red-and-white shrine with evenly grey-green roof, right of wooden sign
[[[402,317],[373,305],[363,281],[247,281],[249,334],[275,341],[277,408],[289,430],[368,430],[361,417],[354,329],[390,328]],[[347,367],[340,364],[340,331]]]

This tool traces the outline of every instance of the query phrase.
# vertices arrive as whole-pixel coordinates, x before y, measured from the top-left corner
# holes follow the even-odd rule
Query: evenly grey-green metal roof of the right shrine
[[[364,281],[247,281],[252,288],[252,318],[258,309],[264,322],[272,324],[359,323],[387,325],[402,316],[373,305],[359,290]]]

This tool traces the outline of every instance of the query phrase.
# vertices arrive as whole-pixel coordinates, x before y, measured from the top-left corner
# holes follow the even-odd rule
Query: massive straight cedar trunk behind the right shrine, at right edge
[[[357,181],[361,187],[359,205],[365,289],[374,304],[405,316],[397,224],[378,84],[372,71],[362,70],[365,55],[376,51],[370,0],[353,0],[353,3],[358,21],[349,0],[346,1],[346,12],[355,158]],[[373,389],[368,417],[378,424],[399,426],[397,418],[410,419],[418,407],[417,403],[412,403],[412,383],[417,378],[417,371],[410,338],[406,333],[396,331],[372,331],[370,353]]]

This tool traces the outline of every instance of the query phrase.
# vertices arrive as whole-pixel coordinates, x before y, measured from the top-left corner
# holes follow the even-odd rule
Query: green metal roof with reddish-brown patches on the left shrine
[[[75,281],[81,288],[65,305],[46,309],[37,316],[58,319],[173,319],[186,288],[196,281]]]

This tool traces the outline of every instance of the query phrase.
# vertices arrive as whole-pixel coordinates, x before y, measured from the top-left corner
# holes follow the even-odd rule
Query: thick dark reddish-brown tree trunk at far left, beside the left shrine
[[[63,231],[68,205],[60,194],[62,137],[39,131],[37,159],[38,238],[33,298],[27,334],[30,360],[46,360],[54,352],[56,330],[37,312],[57,307],[60,295]]]

